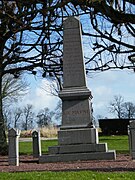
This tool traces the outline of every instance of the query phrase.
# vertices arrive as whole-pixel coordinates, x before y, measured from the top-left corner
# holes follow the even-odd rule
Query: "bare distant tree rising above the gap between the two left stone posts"
[[[33,112],[33,106],[31,104],[27,104],[23,109],[22,128],[26,131],[28,129],[32,129],[34,118],[35,118],[35,114]]]

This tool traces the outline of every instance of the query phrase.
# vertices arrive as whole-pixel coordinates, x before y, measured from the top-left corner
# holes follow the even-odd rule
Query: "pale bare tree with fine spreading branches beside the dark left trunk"
[[[2,101],[3,101],[4,121],[7,127],[10,126],[14,128],[17,127],[17,122],[20,120],[22,113],[20,108],[13,109],[12,105],[14,105],[24,95],[26,95],[28,93],[28,90],[29,90],[29,84],[22,76],[16,79],[13,77],[13,75],[6,74],[3,77]]]

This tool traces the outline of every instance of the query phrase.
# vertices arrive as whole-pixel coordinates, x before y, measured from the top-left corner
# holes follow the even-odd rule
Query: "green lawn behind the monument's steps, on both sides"
[[[116,150],[116,153],[129,153],[128,136],[101,136],[100,143],[106,142],[109,150]],[[41,141],[42,153],[47,153],[49,146],[57,145],[57,140]],[[32,154],[32,142],[20,142],[20,154]]]

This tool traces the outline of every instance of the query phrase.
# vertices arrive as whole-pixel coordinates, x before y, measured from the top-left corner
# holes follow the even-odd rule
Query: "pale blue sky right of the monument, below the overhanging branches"
[[[88,78],[88,87],[93,94],[94,115],[114,117],[109,113],[109,103],[115,95],[121,95],[125,102],[135,103],[135,73],[132,71],[106,71]]]

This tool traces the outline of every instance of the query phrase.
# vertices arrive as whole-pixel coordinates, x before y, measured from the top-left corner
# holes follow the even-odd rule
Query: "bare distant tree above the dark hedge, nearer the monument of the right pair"
[[[110,102],[109,112],[116,114],[117,118],[123,118],[123,103],[124,98],[121,95],[115,95],[112,102]]]

